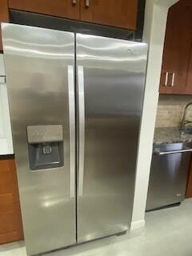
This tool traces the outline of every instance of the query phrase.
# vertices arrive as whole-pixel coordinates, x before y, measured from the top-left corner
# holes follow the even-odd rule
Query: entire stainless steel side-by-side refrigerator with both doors
[[[147,46],[2,24],[28,254],[129,230]]]

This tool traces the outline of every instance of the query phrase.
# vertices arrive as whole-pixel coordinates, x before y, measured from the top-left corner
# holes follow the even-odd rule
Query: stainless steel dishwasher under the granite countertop
[[[146,210],[184,200],[191,151],[191,143],[154,146]]]

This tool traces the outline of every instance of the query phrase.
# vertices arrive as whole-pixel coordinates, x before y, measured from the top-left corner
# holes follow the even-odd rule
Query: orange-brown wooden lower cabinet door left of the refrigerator
[[[0,244],[23,239],[14,159],[0,160]]]

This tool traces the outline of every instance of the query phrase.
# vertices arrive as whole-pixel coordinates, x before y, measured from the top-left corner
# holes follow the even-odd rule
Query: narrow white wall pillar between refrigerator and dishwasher
[[[146,91],[142,112],[142,128],[138,148],[138,165],[131,229],[145,226],[145,210],[154,126],[158,106],[158,86],[168,9],[178,0],[146,0],[143,42],[149,43]]]

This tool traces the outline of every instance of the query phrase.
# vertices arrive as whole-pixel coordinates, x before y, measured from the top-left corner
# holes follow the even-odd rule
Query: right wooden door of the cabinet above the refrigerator
[[[14,0],[13,0],[14,1]],[[81,0],[81,20],[136,30],[138,0]]]

